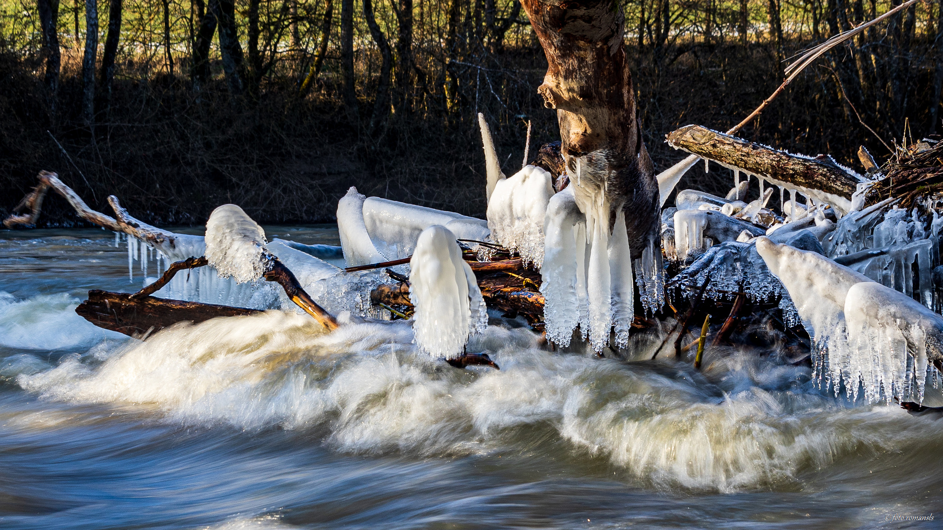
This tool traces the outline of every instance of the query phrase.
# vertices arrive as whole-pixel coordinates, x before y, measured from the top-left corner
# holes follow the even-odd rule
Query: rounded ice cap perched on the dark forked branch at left
[[[265,273],[265,231],[236,205],[223,205],[209,214],[206,244],[207,261],[223,278],[245,283]]]

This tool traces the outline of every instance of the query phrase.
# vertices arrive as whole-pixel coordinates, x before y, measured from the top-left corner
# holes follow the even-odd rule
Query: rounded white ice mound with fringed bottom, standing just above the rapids
[[[488,326],[488,310],[455,234],[438,224],[422,231],[410,260],[413,332],[423,352],[461,354],[471,335]]]

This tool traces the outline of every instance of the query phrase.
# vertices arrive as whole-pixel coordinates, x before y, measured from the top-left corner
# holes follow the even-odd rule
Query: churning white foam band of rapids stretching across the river
[[[943,422],[899,409],[846,408],[807,369],[755,352],[715,350],[702,374],[553,354],[529,331],[492,325],[470,349],[502,370],[459,371],[411,340],[408,323],[325,334],[272,311],[178,324],[18,382],[44,399],[157,410],[172,422],[314,429],[353,454],[501,455],[563,442],[573,457],[604,458],[666,488],[782,487],[843,457],[943,436]]]

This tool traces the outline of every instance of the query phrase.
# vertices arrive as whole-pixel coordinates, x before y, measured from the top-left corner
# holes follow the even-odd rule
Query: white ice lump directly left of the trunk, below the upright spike
[[[491,239],[539,269],[544,254],[544,217],[553,195],[553,177],[537,166],[525,166],[499,180],[488,199]]]

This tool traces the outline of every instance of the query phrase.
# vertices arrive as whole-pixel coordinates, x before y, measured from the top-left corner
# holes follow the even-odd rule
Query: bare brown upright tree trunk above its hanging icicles
[[[547,56],[538,92],[556,109],[561,154],[581,210],[608,207],[610,230],[625,212],[632,257],[656,237],[658,184],[641,140],[635,91],[622,45],[620,4],[523,0]]]

